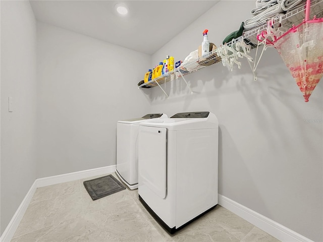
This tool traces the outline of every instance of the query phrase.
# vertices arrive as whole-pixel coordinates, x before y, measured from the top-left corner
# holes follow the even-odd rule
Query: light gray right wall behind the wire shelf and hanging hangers
[[[221,1],[152,56],[184,58],[202,42],[222,44],[227,34],[250,17],[254,1]],[[253,56],[255,50],[252,51]],[[320,81],[308,103],[274,48],[257,69],[258,81],[242,60],[231,72],[222,63],[167,84],[166,99],[158,87],[145,90],[150,111],[215,113],[220,122],[219,193],[286,227],[322,241],[322,104]]]

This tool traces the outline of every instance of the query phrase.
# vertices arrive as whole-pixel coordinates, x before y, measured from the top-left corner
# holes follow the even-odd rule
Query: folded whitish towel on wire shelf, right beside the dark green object
[[[245,30],[252,29],[264,25],[268,20],[272,17],[283,13],[284,10],[282,9],[281,5],[276,4],[265,11],[261,12],[260,14],[253,16],[251,19],[247,19],[244,21],[243,28]]]

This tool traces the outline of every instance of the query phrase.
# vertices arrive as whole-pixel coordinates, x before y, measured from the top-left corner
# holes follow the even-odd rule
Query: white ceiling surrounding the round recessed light
[[[38,21],[153,54],[219,1],[30,1]],[[127,16],[115,5],[129,7]]]

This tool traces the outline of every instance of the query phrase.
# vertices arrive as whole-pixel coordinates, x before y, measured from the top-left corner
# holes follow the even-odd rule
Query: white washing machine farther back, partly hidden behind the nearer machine
[[[165,113],[149,113],[117,123],[116,173],[129,189],[138,188],[138,130],[143,121],[167,118]]]

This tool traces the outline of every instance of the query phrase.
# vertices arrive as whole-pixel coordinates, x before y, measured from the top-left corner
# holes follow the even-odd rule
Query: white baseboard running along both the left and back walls
[[[115,172],[115,170],[116,165],[110,165],[90,170],[82,170],[62,175],[55,175],[36,179],[31,188],[29,189],[24,200],[21,202],[16,213],[12,217],[11,221],[9,222],[8,226],[6,227],[5,231],[1,235],[0,242],[10,242],[37,188],[55,185],[59,183],[66,183],[67,181],[83,179],[91,176],[113,173]]]

